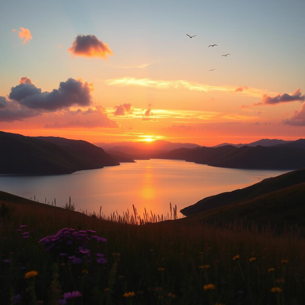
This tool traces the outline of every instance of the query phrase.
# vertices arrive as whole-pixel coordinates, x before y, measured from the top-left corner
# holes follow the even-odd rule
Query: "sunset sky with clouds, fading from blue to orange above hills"
[[[1,2],[0,130],[304,138],[304,10],[303,0]]]

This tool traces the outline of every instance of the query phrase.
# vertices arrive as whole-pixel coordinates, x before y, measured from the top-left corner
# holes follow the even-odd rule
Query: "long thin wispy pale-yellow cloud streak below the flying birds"
[[[231,85],[212,86],[209,84],[201,84],[186,80],[166,81],[166,80],[151,79],[151,78],[118,77],[118,78],[106,80],[105,82],[109,86],[140,86],[140,87],[149,87],[149,88],[158,88],[158,89],[182,88],[182,89],[204,91],[204,92],[219,91],[225,93],[243,94],[253,97],[261,97],[263,94],[267,93],[267,90],[249,88],[246,86],[243,86],[242,90],[237,90],[236,86],[231,86]]]

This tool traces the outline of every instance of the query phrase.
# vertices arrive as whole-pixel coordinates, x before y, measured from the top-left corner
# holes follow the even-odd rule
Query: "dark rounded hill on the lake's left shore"
[[[120,165],[100,147],[81,140],[0,131],[0,143],[1,174],[69,174]]]

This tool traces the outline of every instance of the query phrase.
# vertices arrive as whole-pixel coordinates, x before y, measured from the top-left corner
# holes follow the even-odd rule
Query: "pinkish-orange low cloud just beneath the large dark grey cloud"
[[[70,115],[74,115],[73,120]],[[66,111],[61,117],[61,121],[68,120],[65,123],[46,124],[45,128],[117,128],[119,125],[117,121],[109,119],[106,108],[102,106],[95,106],[95,108],[88,108],[87,110],[77,109],[76,111]]]

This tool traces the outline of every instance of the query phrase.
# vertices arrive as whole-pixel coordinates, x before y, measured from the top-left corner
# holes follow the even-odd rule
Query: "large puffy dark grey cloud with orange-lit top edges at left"
[[[92,90],[92,83],[88,84],[81,79],[69,78],[65,82],[60,82],[58,89],[42,92],[41,88],[32,84],[29,78],[22,77],[20,84],[11,88],[9,99],[30,109],[56,111],[73,105],[90,105]]]

